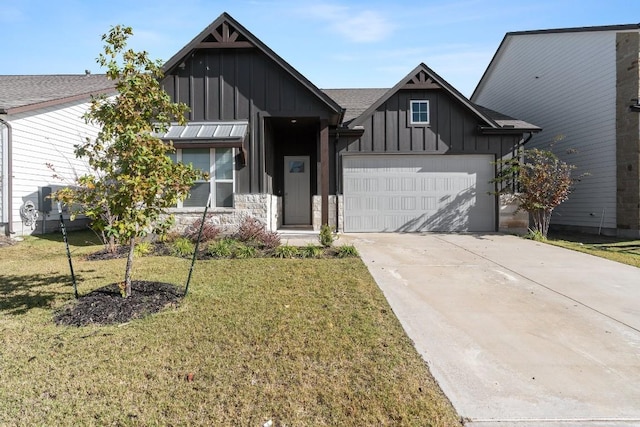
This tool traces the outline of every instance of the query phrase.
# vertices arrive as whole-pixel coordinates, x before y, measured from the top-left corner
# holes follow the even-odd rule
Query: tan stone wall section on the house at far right
[[[619,236],[640,236],[640,33],[616,34],[616,223]]]

